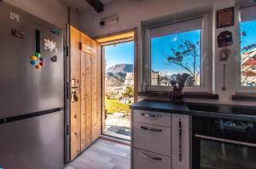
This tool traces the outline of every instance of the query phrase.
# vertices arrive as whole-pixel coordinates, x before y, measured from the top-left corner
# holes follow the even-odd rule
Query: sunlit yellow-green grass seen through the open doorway
[[[129,108],[131,104],[122,104],[121,102],[119,102],[119,99],[105,98],[105,104],[106,104],[107,115],[110,115],[113,113],[128,114],[131,111]]]

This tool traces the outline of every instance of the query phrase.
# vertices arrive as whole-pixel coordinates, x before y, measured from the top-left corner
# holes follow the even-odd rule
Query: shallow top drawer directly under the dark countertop
[[[155,111],[133,110],[133,121],[171,127],[172,115]]]

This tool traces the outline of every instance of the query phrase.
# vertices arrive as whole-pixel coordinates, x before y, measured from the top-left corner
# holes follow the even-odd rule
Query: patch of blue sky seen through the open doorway
[[[106,69],[117,64],[134,62],[134,42],[123,42],[105,46]]]

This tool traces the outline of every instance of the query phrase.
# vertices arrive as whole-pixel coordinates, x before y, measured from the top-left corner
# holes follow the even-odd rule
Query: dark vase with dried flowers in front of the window
[[[172,75],[171,85],[172,91],[170,92],[169,98],[172,101],[182,101],[183,99],[183,87],[185,86],[185,82],[187,81],[189,74],[183,73]]]

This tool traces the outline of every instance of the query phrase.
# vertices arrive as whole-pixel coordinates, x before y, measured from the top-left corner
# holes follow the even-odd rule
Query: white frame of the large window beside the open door
[[[184,17],[186,15],[187,17]],[[192,17],[191,17],[192,16]],[[172,15],[161,23],[143,23],[143,91],[171,91],[172,86],[151,85],[151,37],[149,29],[152,27],[172,25],[186,20],[202,18],[201,31],[201,86],[184,87],[184,92],[212,93],[212,10],[201,14],[178,14]],[[173,20],[176,19],[176,20]]]

